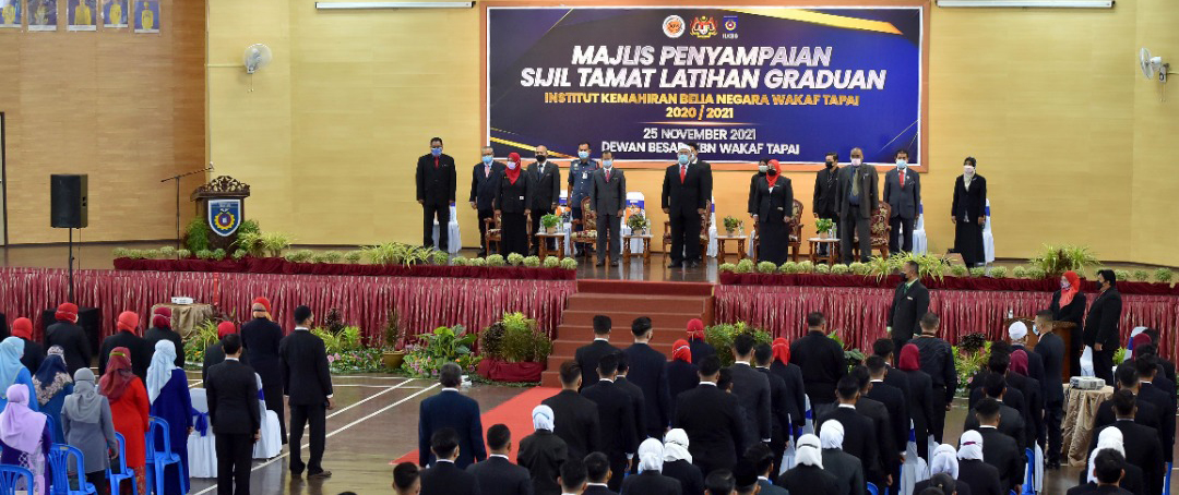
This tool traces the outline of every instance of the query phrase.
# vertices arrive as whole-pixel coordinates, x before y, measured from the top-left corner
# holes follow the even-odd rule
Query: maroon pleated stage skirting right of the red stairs
[[[891,288],[717,285],[714,315],[717,322],[749,322],[793,339],[805,334],[806,314],[822,311],[828,330],[838,330],[854,348],[870,350],[872,341],[885,336],[893,292]],[[1086,296],[1093,301],[1093,293]],[[1016,317],[1033,317],[1052,303],[1052,291],[930,290],[929,299],[929,310],[942,317],[941,332],[950,343],[975,332],[995,341],[1007,337],[1002,322],[1008,310]],[[1164,339],[1160,352],[1173,356],[1179,297],[1124,293],[1121,301],[1121,342],[1127,342],[1134,326],[1155,328]]]

